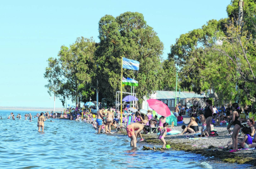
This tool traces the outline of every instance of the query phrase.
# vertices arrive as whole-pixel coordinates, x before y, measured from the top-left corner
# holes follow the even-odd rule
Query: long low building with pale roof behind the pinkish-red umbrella
[[[203,94],[196,94],[194,92],[177,92],[177,104],[179,101],[181,101],[182,105],[186,105],[186,107],[190,107],[192,105],[195,105],[197,107],[201,106],[201,108],[205,108],[205,95]],[[173,91],[156,91],[150,95],[149,98],[144,97],[144,100],[142,102],[141,109],[151,109],[149,108],[149,104],[147,100],[149,99],[157,99],[163,101],[165,104],[168,105],[171,111],[174,111],[175,108],[175,92]]]

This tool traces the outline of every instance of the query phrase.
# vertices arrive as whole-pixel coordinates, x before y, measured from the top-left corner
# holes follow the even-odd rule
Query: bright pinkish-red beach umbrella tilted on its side
[[[149,108],[152,108],[153,110],[155,110],[158,115],[163,115],[165,117],[168,117],[171,115],[170,109],[164,102],[156,99],[149,99],[147,100],[147,102],[149,103]]]

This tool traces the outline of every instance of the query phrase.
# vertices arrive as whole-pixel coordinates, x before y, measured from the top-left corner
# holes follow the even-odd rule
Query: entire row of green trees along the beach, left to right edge
[[[239,100],[251,105],[256,98],[256,2],[244,0],[241,29],[238,2],[231,0],[227,18],[210,20],[202,28],[182,34],[166,60],[162,58],[163,43],[142,14],[105,15],[99,21],[99,43],[77,38],[69,47],[61,46],[58,58],[49,58],[45,86],[63,104],[66,98],[86,102],[90,97],[96,100],[98,79],[99,98],[115,102],[123,56],[140,62],[139,71],[125,69],[123,74],[139,82],[135,87],[139,102],[156,90],[173,90],[177,64],[182,91],[212,89],[218,98],[215,103]],[[222,46],[215,44],[219,38]],[[131,87],[125,86],[124,91],[131,92]]]

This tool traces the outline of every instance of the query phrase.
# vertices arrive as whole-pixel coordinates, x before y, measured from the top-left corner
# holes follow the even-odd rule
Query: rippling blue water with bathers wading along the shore
[[[22,120],[7,119],[10,112]],[[248,165],[215,164],[198,154],[182,151],[153,152],[130,147],[127,136],[95,134],[90,124],[50,119],[44,133],[37,132],[37,117],[0,110],[0,169],[240,169]],[[159,146],[161,147],[161,146]]]

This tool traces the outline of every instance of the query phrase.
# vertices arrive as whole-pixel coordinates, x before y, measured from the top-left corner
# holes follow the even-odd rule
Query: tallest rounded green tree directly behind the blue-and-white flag
[[[160,86],[160,73],[164,45],[152,27],[146,24],[144,16],[138,12],[125,12],[116,18],[103,16],[99,21],[99,46],[96,50],[100,92],[110,100],[115,100],[120,90],[121,57],[140,62],[140,70],[124,70],[124,77],[139,82],[137,97],[156,91]],[[129,86],[125,90],[131,91]]]

